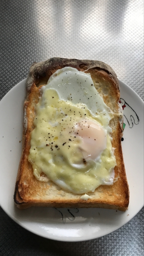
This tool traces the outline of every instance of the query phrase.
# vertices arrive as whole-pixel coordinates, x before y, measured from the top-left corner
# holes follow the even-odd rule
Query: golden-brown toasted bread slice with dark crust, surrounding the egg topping
[[[35,107],[39,101],[39,88],[46,85],[50,76],[63,67],[73,67],[79,71],[91,73],[98,93],[104,102],[115,113],[110,121],[112,127],[112,147],[115,149],[117,165],[115,166],[115,183],[101,185],[94,192],[88,192],[91,197],[82,200],[82,194],[64,191],[52,181],[41,182],[33,175],[33,167],[28,162],[31,132],[34,129]],[[123,114],[119,104],[120,88],[115,72],[101,61],[51,58],[47,61],[33,63],[26,83],[26,100],[24,102],[22,155],[16,178],[14,201],[18,208],[31,206],[46,207],[98,207],[125,211],[129,205],[129,186],[123,162],[121,137]],[[122,117],[122,118],[120,118]]]

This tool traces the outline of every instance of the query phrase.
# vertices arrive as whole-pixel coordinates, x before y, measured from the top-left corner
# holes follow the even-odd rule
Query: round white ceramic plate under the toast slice
[[[120,82],[124,108],[123,156],[130,188],[126,212],[106,209],[56,209],[32,207],[19,210],[13,194],[22,143],[26,79],[0,102],[0,205],[25,229],[59,241],[83,241],[106,235],[131,220],[143,207],[143,101]]]

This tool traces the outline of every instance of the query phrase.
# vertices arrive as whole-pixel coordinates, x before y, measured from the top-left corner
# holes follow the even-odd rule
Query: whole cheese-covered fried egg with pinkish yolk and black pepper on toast
[[[112,185],[116,158],[113,113],[89,73],[64,67],[40,89],[28,160],[39,181],[75,194]]]

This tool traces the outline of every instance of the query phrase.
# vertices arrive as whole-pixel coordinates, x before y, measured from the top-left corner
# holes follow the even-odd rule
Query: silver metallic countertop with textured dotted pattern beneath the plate
[[[142,0],[0,0],[0,99],[34,61],[97,59],[143,98]],[[144,255],[144,210],[104,237],[65,243],[38,237],[0,208],[0,256]]]

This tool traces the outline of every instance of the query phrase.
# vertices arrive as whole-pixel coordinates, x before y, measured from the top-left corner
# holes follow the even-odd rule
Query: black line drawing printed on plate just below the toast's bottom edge
[[[65,224],[67,218],[70,221],[75,220],[74,214],[79,212],[79,209],[77,209],[77,208],[68,209],[68,208],[56,208],[55,207],[55,209],[60,212],[63,224]]]

